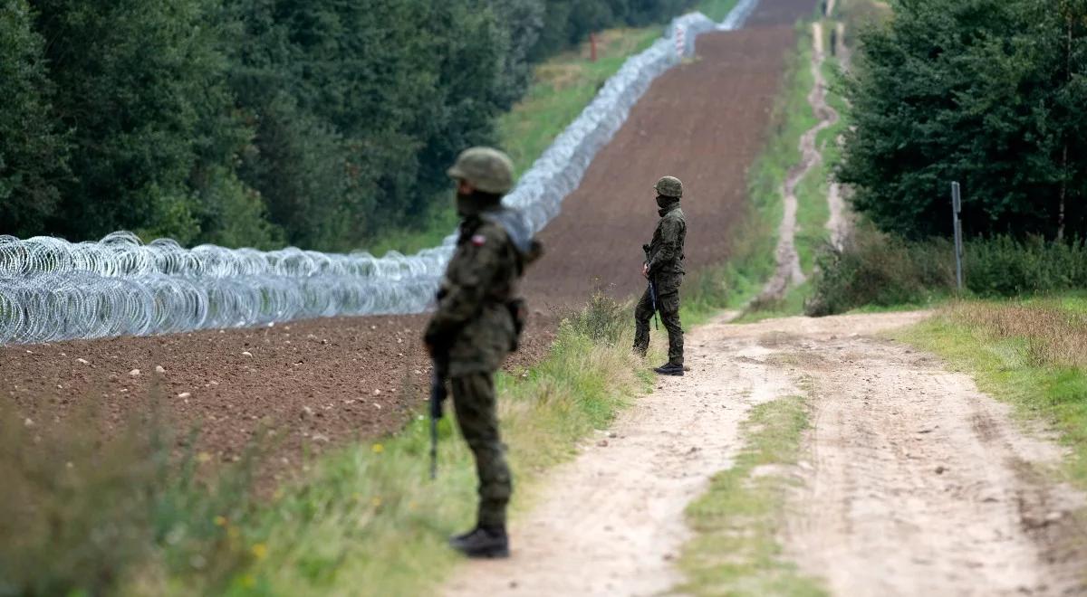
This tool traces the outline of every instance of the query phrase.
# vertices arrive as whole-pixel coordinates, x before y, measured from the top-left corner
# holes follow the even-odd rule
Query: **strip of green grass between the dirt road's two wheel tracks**
[[[679,569],[689,595],[825,595],[782,557],[776,536],[785,498],[796,483],[767,467],[795,465],[808,411],[790,396],[751,409],[741,428],[745,447],[733,468],[717,473],[709,491],[687,507],[695,537],[684,546]]]

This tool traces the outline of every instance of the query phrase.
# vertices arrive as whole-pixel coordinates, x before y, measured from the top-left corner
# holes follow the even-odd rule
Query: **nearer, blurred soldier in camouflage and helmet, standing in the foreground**
[[[518,214],[501,205],[513,185],[513,165],[504,153],[466,150],[448,174],[457,180],[463,219],[424,341],[448,374],[457,421],[479,478],[476,528],[452,537],[450,545],[470,557],[505,557],[512,483],[498,431],[493,374],[516,350],[525,318],[516,283],[540,247]]]

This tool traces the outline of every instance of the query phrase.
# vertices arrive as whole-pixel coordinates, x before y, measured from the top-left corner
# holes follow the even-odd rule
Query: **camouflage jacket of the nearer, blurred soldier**
[[[538,243],[507,209],[470,216],[438,291],[425,340],[448,356],[449,376],[497,370],[516,342],[511,302]]]

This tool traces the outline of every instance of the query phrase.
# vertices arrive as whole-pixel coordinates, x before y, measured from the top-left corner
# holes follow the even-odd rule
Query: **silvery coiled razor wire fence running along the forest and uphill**
[[[758,0],[741,0],[722,24],[700,13],[632,56],[505,198],[537,232],[580,183],[597,152],[626,122],[652,81],[694,53],[696,38],[742,25]],[[143,244],[130,232],[71,243],[0,236],[0,344],[41,343],[251,327],[341,315],[427,308],[455,236],[414,255],[262,252],[170,239]]]

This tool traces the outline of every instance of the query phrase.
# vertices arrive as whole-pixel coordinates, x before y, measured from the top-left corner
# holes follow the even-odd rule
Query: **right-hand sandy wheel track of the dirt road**
[[[788,532],[836,595],[1082,595],[1082,496],[1060,452],[935,358],[872,339],[797,353],[815,388],[812,465]]]

